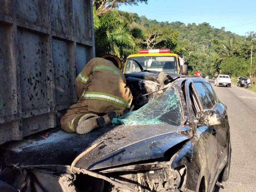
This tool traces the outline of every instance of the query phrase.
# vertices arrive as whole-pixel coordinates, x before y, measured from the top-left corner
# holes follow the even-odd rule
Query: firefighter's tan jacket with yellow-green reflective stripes
[[[130,108],[132,95],[126,87],[125,75],[111,61],[93,58],[76,78],[79,98],[88,100],[88,111],[123,114]]]

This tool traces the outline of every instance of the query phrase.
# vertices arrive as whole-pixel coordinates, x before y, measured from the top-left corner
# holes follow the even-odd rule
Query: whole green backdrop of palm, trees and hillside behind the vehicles
[[[217,29],[208,23],[158,22],[135,13],[99,10],[99,6],[94,6],[97,56],[109,52],[124,59],[139,49],[170,48],[187,58],[190,74],[197,70],[204,76],[217,71],[231,76],[251,73],[255,78],[255,48],[250,66],[251,45],[256,39],[254,32],[239,36],[226,31],[225,27]]]

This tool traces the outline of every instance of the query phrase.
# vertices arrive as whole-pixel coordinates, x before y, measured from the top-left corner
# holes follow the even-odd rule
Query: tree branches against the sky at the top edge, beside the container
[[[118,8],[120,5],[137,5],[138,3],[147,3],[148,0],[93,0],[93,6],[95,7],[95,11],[97,16],[101,16],[104,13],[112,10],[114,8]]]

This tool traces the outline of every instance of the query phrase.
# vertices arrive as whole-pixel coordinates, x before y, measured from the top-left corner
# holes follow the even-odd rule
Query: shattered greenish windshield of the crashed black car
[[[114,124],[181,124],[181,106],[179,97],[173,87],[168,88],[156,99],[147,103],[137,111],[129,112],[119,119],[112,120]]]

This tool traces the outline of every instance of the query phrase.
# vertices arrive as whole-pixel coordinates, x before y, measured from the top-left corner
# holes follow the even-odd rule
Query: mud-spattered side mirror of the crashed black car
[[[197,113],[197,126],[211,126],[221,124],[221,114],[215,109],[205,109]]]

